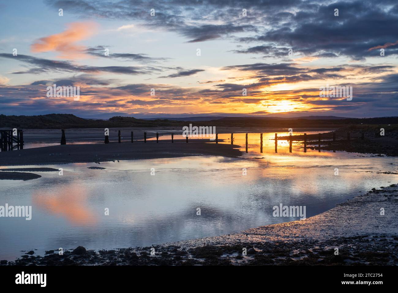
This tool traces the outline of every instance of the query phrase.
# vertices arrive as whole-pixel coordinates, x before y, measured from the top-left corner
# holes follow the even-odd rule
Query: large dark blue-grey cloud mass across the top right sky
[[[296,0],[203,0],[156,1],[151,17],[144,1],[108,0],[46,1],[53,7],[66,7],[80,16],[131,20],[148,29],[174,31],[187,43],[234,38],[254,43],[236,53],[265,54],[288,58],[286,48],[304,56],[361,60],[376,56],[373,49],[391,47],[397,39],[398,6],[396,0],[296,1]],[[247,9],[242,17],[240,8]],[[334,16],[334,9],[339,16]],[[123,26],[120,29],[124,29]],[[245,33],[245,36],[234,35]],[[385,44],[380,46],[380,44]],[[371,49],[369,49],[369,47]],[[391,48],[389,55],[397,55]],[[302,56],[300,56],[302,57]]]

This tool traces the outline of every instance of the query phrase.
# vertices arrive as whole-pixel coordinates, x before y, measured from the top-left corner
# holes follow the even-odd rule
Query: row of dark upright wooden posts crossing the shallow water
[[[117,134],[118,136],[118,142],[119,144],[121,143],[121,134],[120,130]],[[131,132],[131,143],[133,143],[133,138],[134,138],[134,132]],[[361,140],[365,138],[364,134],[362,133]],[[347,132],[347,141],[350,140],[350,133]],[[333,134],[333,141],[336,141],[336,133]],[[159,142],[159,133],[156,132],[156,143]],[[188,143],[188,136],[186,137],[186,142]],[[289,134],[289,152],[292,152],[292,142],[293,142],[293,136],[292,134]],[[146,132],[144,132],[144,143],[146,143]],[[172,133],[172,143],[174,143],[174,133]],[[219,143],[219,134],[216,133],[216,144]],[[66,144],[66,139],[65,139],[65,130],[62,129],[62,138],[61,138],[61,144]],[[105,136],[105,144],[109,144],[109,136]],[[231,133],[231,144],[234,144],[234,134]],[[318,134],[318,149],[319,152],[321,151],[321,134]],[[304,133],[304,152],[307,151],[307,134]],[[248,133],[246,133],[246,153],[248,152]],[[260,133],[260,152],[263,152],[263,134]],[[275,153],[278,152],[278,134],[275,133]]]

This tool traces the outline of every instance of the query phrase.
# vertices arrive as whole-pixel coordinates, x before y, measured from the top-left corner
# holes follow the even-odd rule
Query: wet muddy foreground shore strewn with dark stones
[[[380,214],[384,208],[384,215]],[[242,232],[117,250],[30,251],[2,265],[398,265],[398,184],[326,212]],[[375,232],[377,231],[377,232]],[[242,256],[242,250],[247,255]],[[339,254],[336,255],[336,248]],[[29,255],[28,255],[29,254]]]

